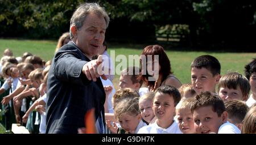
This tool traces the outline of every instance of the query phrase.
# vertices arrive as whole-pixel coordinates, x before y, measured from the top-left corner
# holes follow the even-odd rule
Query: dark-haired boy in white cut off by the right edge
[[[256,103],[256,58],[245,66],[245,76],[251,86],[251,95],[246,101],[246,105],[250,107]]]

